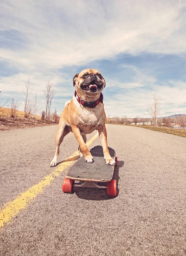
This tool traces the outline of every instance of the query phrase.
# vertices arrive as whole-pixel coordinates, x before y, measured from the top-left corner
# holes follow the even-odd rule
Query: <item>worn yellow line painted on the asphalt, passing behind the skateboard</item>
[[[94,140],[98,137],[96,133],[86,145],[89,147]],[[61,163],[51,174],[43,178],[39,183],[31,188],[27,189],[22,194],[18,195],[16,199],[5,204],[3,209],[0,210],[0,228],[2,228],[7,222],[9,222],[15,215],[17,215],[21,209],[24,209],[34,198],[43,192],[46,186],[49,186],[55,177],[59,176],[61,172],[67,167],[73,165],[73,163],[78,159],[78,151],[75,151],[71,156],[69,156],[63,163]]]

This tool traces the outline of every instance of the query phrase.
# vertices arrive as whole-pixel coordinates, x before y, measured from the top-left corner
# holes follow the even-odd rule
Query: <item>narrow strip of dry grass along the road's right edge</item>
[[[122,124],[112,124],[107,123],[109,125],[122,125]],[[174,134],[181,137],[186,137],[186,129],[174,129],[174,128],[167,128],[167,127],[155,127],[155,126],[146,126],[146,125],[127,125],[127,126],[134,126],[134,127],[140,127],[145,128],[152,131],[160,131],[168,134]]]

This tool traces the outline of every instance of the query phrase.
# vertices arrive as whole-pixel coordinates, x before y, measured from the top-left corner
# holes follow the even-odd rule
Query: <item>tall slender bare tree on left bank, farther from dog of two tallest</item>
[[[29,96],[32,93],[32,86],[30,83],[30,78],[27,79],[25,87],[23,88],[23,93],[25,94],[25,109],[24,109],[24,116],[27,118],[29,117],[34,111],[34,103],[29,100]]]

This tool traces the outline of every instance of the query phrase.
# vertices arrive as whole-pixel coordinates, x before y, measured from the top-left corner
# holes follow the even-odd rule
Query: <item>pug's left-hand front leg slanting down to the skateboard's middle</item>
[[[89,148],[87,148],[87,145],[85,144],[85,142],[83,140],[83,137],[80,133],[80,129],[76,126],[74,126],[74,127],[72,126],[72,131],[73,131],[74,136],[76,137],[77,141],[80,144],[80,148],[83,153],[83,156],[85,157],[85,161],[87,163],[93,163],[94,160],[93,160],[92,154],[90,153]]]

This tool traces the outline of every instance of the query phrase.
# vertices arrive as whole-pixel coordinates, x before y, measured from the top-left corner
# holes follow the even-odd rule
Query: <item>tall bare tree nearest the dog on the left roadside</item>
[[[55,96],[55,89],[52,88],[53,84],[51,81],[48,81],[48,83],[45,86],[45,90],[43,90],[45,94],[45,102],[46,102],[46,119],[49,119],[50,117],[50,109],[52,105],[52,99],[54,99]]]

